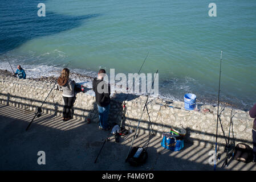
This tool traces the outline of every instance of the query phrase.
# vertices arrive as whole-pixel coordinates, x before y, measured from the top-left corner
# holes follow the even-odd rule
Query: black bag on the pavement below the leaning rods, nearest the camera
[[[148,159],[148,153],[143,147],[133,147],[127,161],[131,166],[141,166]]]

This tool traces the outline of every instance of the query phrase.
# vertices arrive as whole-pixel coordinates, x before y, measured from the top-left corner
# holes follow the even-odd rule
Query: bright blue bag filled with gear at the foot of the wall
[[[171,151],[180,151],[184,148],[184,137],[172,132],[164,133],[162,134],[161,146]]]

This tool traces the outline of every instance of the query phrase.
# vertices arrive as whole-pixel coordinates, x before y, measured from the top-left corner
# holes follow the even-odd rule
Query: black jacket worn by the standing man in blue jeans
[[[103,93],[99,93],[98,91],[100,90],[97,90],[97,86],[99,84],[102,84],[101,89],[104,90]],[[110,85],[109,84],[107,85],[105,81],[94,78],[94,81],[92,81],[92,89],[95,92],[97,105],[101,107],[105,107],[110,104]]]

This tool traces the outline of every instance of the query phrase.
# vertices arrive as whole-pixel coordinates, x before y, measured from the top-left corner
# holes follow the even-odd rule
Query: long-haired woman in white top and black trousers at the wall
[[[72,81],[70,78],[70,70],[64,68],[60,77],[58,78],[58,84],[63,89],[63,100],[64,100],[64,107],[63,107],[63,121],[68,121],[71,119],[71,107],[73,106],[74,98],[75,98],[75,82]]]

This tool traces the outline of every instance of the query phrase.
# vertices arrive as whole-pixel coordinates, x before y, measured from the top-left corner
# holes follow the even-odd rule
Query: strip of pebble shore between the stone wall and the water
[[[5,69],[5,70],[0,69],[0,75],[3,76],[3,77],[13,77],[13,73],[8,71],[7,69]],[[70,77],[71,77],[71,79],[74,79],[74,80],[84,80],[84,82],[82,82],[82,84],[85,85],[87,88],[90,88],[91,86],[86,85],[84,83],[92,81],[94,79],[94,77],[91,77],[91,76],[88,76],[88,75],[82,75],[82,74],[79,74],[79,73],[70,73]],[[54,84],[56,82],[57,78],[58,77],[56,77],[56,76],[42,76],[40,78],[27,77],[26,79],[27,80],[32,80],[32,81],[50,82],[50,84]],[[115,95],[115,94],[126,94],[126,93],[115,92],[113,94]],[[136,96],[145,96],[144,94],[134,94],[134,93],[128,93],[128,94],[136,95]],[[155,98],[161,99],[163,101],[168,101],[168,102],[182,102],[182,103],[184,103],[184,101],[181,101],[181,100],[178,100],[178,99],[172,100],[172,99],[166,98],[164,96],[158,96],[158,97],[155,97]],[[216,107],[217,106],[217,101],[216,101],[216,104],[213,104],[213,103],[214,103],[214,100],[210,101],[210,100],[206,100],[204,98],[201,99],[201,100],[197,99],[197,101],[196,101],[196,104],[198,106],[210,105],[210,106]],[[238,105],[230,104],[226,101],[220,101],[220,106],[231,107],[232,109],[238,109],[238,110],[242,110],[242,111],[248,111],[245,108],[241,109],[241,108],[239,108]]]

